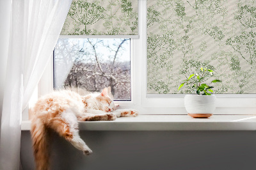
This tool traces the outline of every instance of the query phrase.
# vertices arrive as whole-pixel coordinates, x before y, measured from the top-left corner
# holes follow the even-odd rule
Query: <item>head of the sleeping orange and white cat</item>
[[[115,109],[115,104],[112,98],[108,95],[108,88],[102,89],[100,95],[96,97],[99,110],[104,112],[111,112]]]

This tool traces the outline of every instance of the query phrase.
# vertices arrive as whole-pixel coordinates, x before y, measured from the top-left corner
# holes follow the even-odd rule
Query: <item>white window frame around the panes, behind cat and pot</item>
[[[147,0],[138,0],[140,38],[131,39],[131,101],[116,101],[140,114],[187,114],[184,95],[147,94]],[[38,97],[53,90],[53,59],[38,84]],[[256,95],[216,95],[214,114],[256,114]]]

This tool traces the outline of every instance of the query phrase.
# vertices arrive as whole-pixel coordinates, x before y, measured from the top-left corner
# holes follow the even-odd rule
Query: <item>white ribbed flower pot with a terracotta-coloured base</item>
[[[193,118],[208,118],[216,109],[216,96],[186,95],[184,104],[188,115]]]

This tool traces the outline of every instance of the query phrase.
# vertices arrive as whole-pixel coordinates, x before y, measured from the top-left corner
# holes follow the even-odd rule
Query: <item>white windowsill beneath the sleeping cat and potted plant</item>
[[[30,121],[21,129],[30,130]],[[80,130],[256,130],[256,115],[213,115],[195,119],[188,115],[140,115],[115,121],[79,122]]]

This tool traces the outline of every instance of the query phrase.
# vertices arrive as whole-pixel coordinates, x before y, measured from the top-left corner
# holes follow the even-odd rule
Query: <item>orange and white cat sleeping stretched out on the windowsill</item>
[[[33,113],[31,138],[37,170],[49,169],[49,129],[90,155],[92,150],[80,138],[77,121],[110,121],[116,117],[138,116],[134,109],[118,109],[108,96],[108,88],[86,96],[70,90],[54,91],[38,99]]]

